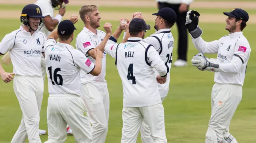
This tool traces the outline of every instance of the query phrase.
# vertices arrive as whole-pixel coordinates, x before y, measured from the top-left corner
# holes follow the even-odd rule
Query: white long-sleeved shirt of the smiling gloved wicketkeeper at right
[[[198,51],[217,53],[220,61],[219,72],[215,72],[214,82],[243,86],[251,48],[243,32],[223,36],[219,40],[206,42],[202,37],[192,38]]]

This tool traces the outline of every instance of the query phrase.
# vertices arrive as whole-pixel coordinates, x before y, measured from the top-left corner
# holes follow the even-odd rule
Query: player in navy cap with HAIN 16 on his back
[[[72,20],[72,18],[71,18]],[[73,19],[76,23],[78,19]],[[81,98],[80,69],[98,76],[102,71],[103,53],[94,51],[95,64],[70,45],[74,39],[74,24],[63,20],[48,37],[44,45],[49,86],[47,106],[48,141],[64,143],[66,125],[74,132],[76,143],[92,143],[88,111]],[[59,38],[59,42],[56,40]]]

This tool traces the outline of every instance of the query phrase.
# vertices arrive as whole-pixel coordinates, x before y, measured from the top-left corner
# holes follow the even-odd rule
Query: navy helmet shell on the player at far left
[[[21,16],[27,16],[30,18],[45,18],[42,15],[41,8],[36,4],[28,4],[24,6],[21,12]]]

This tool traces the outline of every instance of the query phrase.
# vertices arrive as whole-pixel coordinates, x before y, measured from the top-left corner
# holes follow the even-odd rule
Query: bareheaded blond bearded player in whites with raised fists
[[[95,63],[94,50],[103,51],[102,71],[99,76],[86,74],[81,71],[82,97],[86,101],[86,107],[92,119],[92,137],[94,143],[104,143],[108,132],[109,94],[106,75],[106,43],[116,43],[123,29],[121,26],[112,34],[111,24],[106,23],[100,31],[100,15],[95,5],[81,7],[80,18],[84,22],[82,31],[76,37],[76,49],[82,51],[92,63]]]

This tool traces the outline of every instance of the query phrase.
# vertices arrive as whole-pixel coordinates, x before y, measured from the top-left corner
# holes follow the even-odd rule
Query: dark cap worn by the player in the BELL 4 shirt
[[[143,30],[150,30],[150,25],[140,18],[133,18],[129,24],[130,32],[140,32]]]

